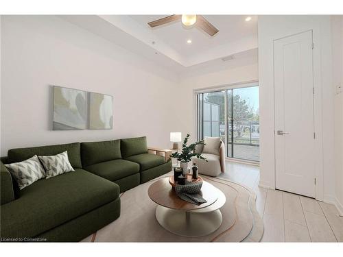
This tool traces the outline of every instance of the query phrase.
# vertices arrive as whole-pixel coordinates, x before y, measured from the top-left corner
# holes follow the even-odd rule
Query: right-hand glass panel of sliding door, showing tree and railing
[[[259,88],[233,89],[233,157],[259,161]]]

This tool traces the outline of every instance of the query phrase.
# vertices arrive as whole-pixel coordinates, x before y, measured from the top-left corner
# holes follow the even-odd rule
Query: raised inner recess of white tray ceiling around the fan
[[[242,15],[204,15],[207,21],[219,29],[215,36],[209,36],[197,27],[186,27],[181,21],[154,28],[147,25],[148,22],[161,19],[165,15],[131,15],[130,17],[141,26],[150,29],[160,40],[186,58],[244,38],[257,37],[257,16],[251,16],[251,21],[246,22],[247,16]],[[192,40],[191,44],[187,44],[188,39]]]

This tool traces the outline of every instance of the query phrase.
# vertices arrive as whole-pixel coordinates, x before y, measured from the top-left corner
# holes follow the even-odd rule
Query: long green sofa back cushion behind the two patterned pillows
[[[63,151],[68,151],[69,162],[74,169],[82,168],[80,143],[10,149],[8,150],[8,162],[21,162],[23,160],[31,158],[34,155],[54,156],[56,154],[62,153]]]

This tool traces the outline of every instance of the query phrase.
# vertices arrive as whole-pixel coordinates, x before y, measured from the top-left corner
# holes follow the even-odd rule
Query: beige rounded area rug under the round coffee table
[[[255,208],[256,195],[249,188],[222,178],[202,175],[202,178],[226,195],[220,208],[222,225],[208,236],[189,238],[168,232],[156,221],[156,204],[148,197],[150,184],[141,184],[121,194],[120,217],[83,242],[259,242],[263,235],[263,221]]]

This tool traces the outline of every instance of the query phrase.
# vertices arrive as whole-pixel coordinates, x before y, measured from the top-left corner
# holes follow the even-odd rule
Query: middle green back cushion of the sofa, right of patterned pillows
[[[84,167],[107,160],[121,159],[120,139],[81,143],[81,158]]]

